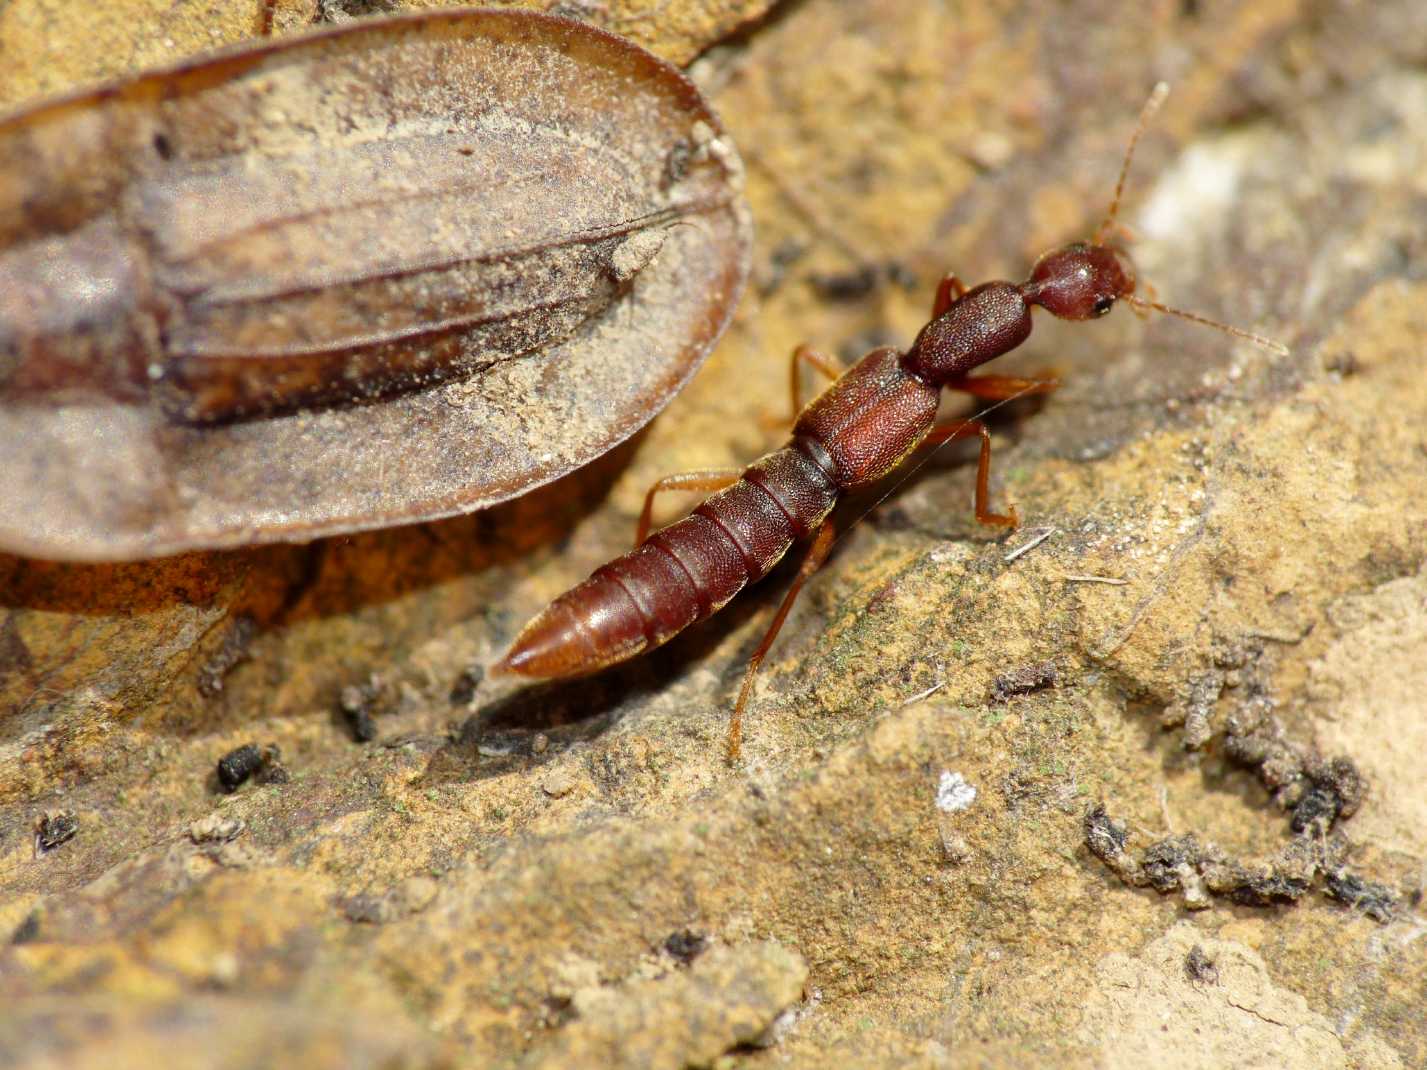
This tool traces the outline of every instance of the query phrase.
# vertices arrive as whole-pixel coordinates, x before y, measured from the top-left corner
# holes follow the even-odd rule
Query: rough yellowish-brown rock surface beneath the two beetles
[[[695,66],[749,161],[755,285],[636,444],[422,528],[7,561],[7,1061],[1427,1063],[1424,30],[1408,3],[779,7]],[[484,679],[654,478],[769,445],[793,344],[906,341],[942,271],[1013,275],[1093,228],[1162,77],[1137,264],[1290,357],[1040,321],[1005,371],[1066,385],[995,427],[1022,531],[977,528],[960,455],[899,488],[809,586],[736,769],[726,708],[786,572],[626,669]],[[1250,722],[1367,776],[1334,836],[1393,920],[1321,882],[1189,912],[1086,849],[1099,802],[1130,850],[1281,852],[1226,742]],[[287,779],[221,795],[247,742]],[[37,853],[46,816],[74,835]]]

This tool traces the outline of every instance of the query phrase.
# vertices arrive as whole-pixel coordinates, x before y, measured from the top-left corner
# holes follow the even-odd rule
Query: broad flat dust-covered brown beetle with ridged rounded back
[[[0,549],[301,539],[548,482],[723,330],[741,184],[679,71],[529,11],[352,23],[0,120]]]

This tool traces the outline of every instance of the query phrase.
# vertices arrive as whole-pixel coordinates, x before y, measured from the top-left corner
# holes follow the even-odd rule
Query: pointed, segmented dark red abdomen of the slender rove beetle
[[[802,444],[772,452],[691,516],[557,598],[498,668],[578,676],[668,642],[766,575],[836,499],[832,478]]]

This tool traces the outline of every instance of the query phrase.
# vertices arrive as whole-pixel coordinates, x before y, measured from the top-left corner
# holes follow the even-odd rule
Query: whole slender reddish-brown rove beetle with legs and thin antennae
[[[743,586],[766,575],[796,539],[811,536],[808,556],[743,673],[728,739],[729,759],[736,759],[743,708],[758,668],[798,592],[832,549],[836,529],[828,516],[845,492],[888,475],[919,445],[975,435],[980,438],[976,519],[1016,526],[1015,508],[1006,514],[990,509],[986,425],[979,419],[935,421],[943,389],[1005,401],[1049,394],[1059,385],[1052,378],[970,374],[1026,341],[1033,307],[1062,320],[1085,321],[1104,315],[1116,301],[1126,301],[1140,311],[1153,308],[1206,322],[1281,351],[1281,345],[1267,338],[1136,297],[1127,255],[1106,244],[1116,227],[1134,144],[1167,91],[1167,86],[1159,86],[1146,103],[1110,210],[1092,241],[1046,253],[1019,285],[983,282],[968,290],[956,275],[946,275],[938,287],[930,322],[906,352],[875,350],[839,374],[829,358],[799,347],[793,354],[792,441],[746,469],[688,472],[656,482],[645,498],[635,549],[555,599],[525,626],[497,671],[558,679],[634,658],[711,616]],[[836,379],[801,412],[799,361]],[[719,492],[691,516],[646,538],[654,498],[666,489]]]

